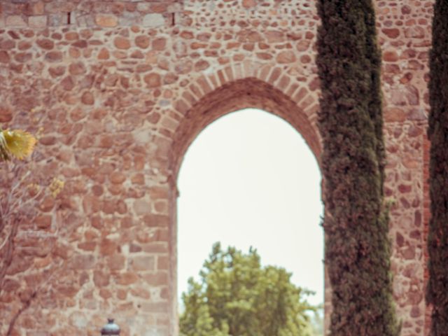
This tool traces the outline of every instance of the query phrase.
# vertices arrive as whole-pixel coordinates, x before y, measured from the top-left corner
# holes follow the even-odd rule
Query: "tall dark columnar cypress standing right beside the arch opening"
[[[318,73],[330,332],[398,335],[384,206],[380,65],[371,0],[319,0]]]

